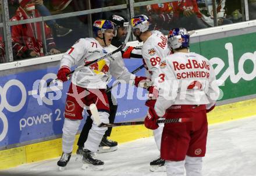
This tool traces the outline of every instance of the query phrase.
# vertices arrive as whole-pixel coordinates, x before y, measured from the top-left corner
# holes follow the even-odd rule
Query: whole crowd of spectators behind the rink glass
[[[136,0],[141,2],[141,0]],[[51,16],[61,13],[104,8],[125,4],[125,0],[10,0],[10,20],[24,20],[39,16]],[[32,4],[32,5],[31,5]],[[33,6],[34,4],[34,6]],[[256,19],[256,0],[248,0],[250,20]],[[29,5],[29,7],[27,7]],[[30,10],[31,12],[29,12]],[[167,34],[170,28],[184,27],[197,30],[214,26],[212,0],[179,0],[156,3],[134,8],[135,15],[145,14],[150,19],[151,30],[159,30]],[[216,0],[216,16],[218,26],[242,21],[240,0]],[[45,54],[65,52],[70,44],[81,37],[89,37],[90,21],[103,19],[112,13],[127,16],[127,9],[81,15],[61,20],[47,20],[44,31],[47,51],[42,46],[40,23],[20,24],[11,27],[14,59],[34,58]],[[91,20],[88,20],[90,19]],[[0,33],[0,63],[6,62],[4,42]]]

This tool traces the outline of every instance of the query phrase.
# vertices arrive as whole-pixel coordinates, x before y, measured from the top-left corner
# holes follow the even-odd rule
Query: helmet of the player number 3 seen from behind
[[[189,48],[189,33],[186,28],[174,28],[168,34],[170,49]]]

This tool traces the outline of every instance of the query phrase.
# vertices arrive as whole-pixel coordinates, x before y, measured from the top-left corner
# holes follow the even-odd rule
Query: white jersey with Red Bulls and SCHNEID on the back
[[[161,60],[158,70],[159,95],[155,111],[159,117],[172,105],[215,105],[219,97],[214,69],[197,53],[177,52]]]

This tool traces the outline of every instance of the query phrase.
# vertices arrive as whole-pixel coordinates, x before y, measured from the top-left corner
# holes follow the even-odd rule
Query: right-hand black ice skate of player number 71
[[[104,162],[94,158],[95,154],[90,150],[84,150],[83,155],[83,166],[81,167],[84,170],[102,170]]]

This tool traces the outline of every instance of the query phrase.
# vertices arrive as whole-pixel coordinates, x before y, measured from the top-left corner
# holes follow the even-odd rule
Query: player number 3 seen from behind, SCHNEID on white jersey
[[[158,128],[159,117],[188,118],[189,122],[165,124],[161,158],[168,176],[201,176],[207,142],[207,112],[219,97],[214,69],[209,60],[189,52],[189,34],[184,28],[171,30],[168,45],[173,55],[161,58],[154,80],[158,98],[150,100],[145,127]],[[152,80],[153,81],[153,80]]]

